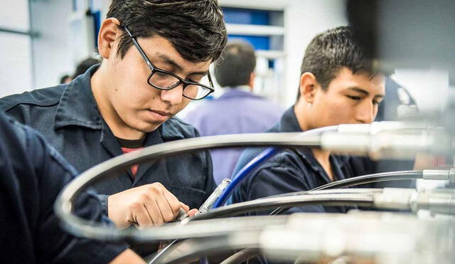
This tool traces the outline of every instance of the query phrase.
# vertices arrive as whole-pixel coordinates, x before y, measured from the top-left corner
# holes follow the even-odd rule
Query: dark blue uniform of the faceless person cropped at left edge
[[[43,137],[0,113],[1,263],[109,263],[127,248],[60,228],[53,204],[75,175]],[[95,194],[78,204],[78,215],[108,223]]]

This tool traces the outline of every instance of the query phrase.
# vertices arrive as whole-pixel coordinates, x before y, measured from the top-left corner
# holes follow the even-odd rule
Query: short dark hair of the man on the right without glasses
[[[376,74],[373,61],[366,58],[363,48],[355,42],[352,28],[340,26],[318,34],[306,48],[300,74],[313,73],[323,90],[346,67],[353,73]],[[297,95],[299,99],[300,92]]]

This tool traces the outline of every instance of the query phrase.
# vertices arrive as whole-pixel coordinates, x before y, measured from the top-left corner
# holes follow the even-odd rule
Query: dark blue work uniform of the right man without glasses
[[[268,132],[302,132],[294,113],[294,107],[289,108],[282,115],[281,120]],[[257,156],[262,149],[251,148],[240,156],[235,173],[242,169],[251,159]],[[375,171],[375,163],[368,158],[330,155],[333,170],[333,180],[347,177],[370,174]],[[251,201],[265,196],[286,194],[294,191],[309,191],[331,180],[326,171],[317,162],[309,148],[283,149],[257,170],[235,190],[229,204],[242,201]],[[288,213],[293,212],[331,212],[346,213],[347,206],[296,206]]]

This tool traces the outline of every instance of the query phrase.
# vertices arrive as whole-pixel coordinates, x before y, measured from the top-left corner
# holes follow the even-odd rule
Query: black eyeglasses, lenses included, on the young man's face
[[[146,61],[147,65],[151,70],[149,78],[147,79],[147,83],[151,85],[151,87],[159,89],[159,90],[171,90],[176,88],[178,85],[183,83],[183,96],[187,97],[191,100],[200,100],[203,99],[205,96],[210,95],[213,93],[215,89],[213,89],[213,82],[212,78],[210,77],[210,72],[208,73],[208,85],[203,85],[202,83],[191,82],[188,80],[183,80],[182,78],[178,77],[177,75],[168,72],[167,70],[162,70],[157,68],[142,50],[141,46],[137,42],[136,38],[129,32],[128,28],[125,26],[123,27],[125,31],[127,31],[128,35],[132,38],[134,46],[136,46],[139,53],[141,53],[142,58]]]

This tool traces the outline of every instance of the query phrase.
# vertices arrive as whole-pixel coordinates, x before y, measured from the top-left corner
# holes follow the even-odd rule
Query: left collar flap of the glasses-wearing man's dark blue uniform
[[[102,129],[102,117],[90,84],[90,78],[99,66],[93,65],[64,88],[55,113],[55,130],[71,125]]]

